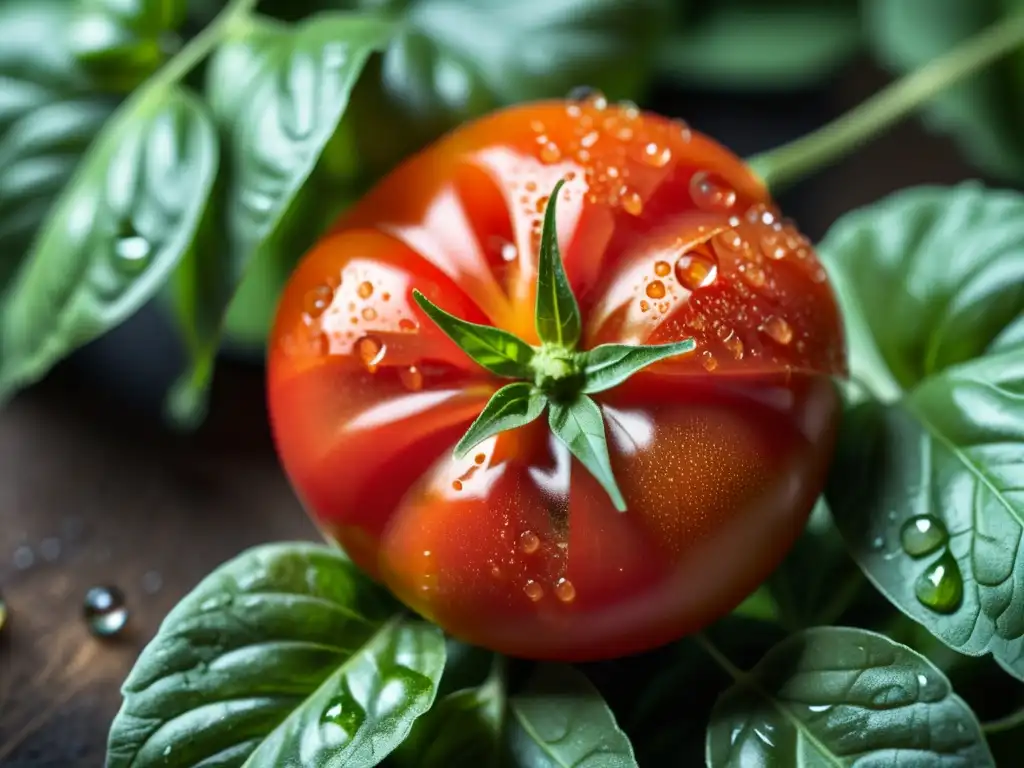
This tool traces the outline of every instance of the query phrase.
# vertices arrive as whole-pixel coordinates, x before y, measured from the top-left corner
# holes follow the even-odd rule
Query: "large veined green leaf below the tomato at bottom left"
[[[339,551],[258,547],[164,620],[124,686],[109,768],[377,765],[434,698],[439,629]]]

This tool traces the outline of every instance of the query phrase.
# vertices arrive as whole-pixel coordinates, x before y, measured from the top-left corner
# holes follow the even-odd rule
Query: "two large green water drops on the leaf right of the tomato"
[[[913,585],[914,596],[938,613],[952,613],[964,600],[964,579],[949,551],[949,531],[938,517],[916,515],[900,527],[900,546],[913,558],[939,556],[928,564]]]

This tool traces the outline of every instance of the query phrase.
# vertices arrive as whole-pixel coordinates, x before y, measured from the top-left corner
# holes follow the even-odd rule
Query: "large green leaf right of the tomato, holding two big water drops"
[[[1024,197],[902,193],[820,253],[877,397],[826,489],[847,547],[900,610],[1024,679]]]

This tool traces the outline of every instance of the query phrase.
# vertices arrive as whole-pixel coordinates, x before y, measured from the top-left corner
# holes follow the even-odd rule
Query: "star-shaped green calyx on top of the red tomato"
[[[456,458],[465,457],[488,437],[529,424],[547,410],[551,431],[601,483],[615,509],[625,512],[626,500],[611,470],[604,417],[589,395],[615,387],[666,357],[692,352],[696,343],[685,339],[650,346],[601,344],[578,350],[583,321],[562,264],[555,226],[556,201],[563,183],[555,184],[544,213],[535,311],[539,347],[508,331],[457,317],[419,291],[413,291],[413,298],[481,368],[518,380],[495,392],[456,445]]]

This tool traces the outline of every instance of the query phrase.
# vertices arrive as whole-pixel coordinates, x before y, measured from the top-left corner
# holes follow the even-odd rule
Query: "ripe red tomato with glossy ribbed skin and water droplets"
[[[537,343],[562,178],[583,348],[697,342],[595,395],[626,512],[545,419],[453,458],[507,380],[412,297]],[[269,406],[297,492],[367,572],[470,643],[583,660],[696,631],[778,564],[824,482],[845,365],[824,271],[743,163],[597,97],[470,123],[347,213],[285,291]]]

